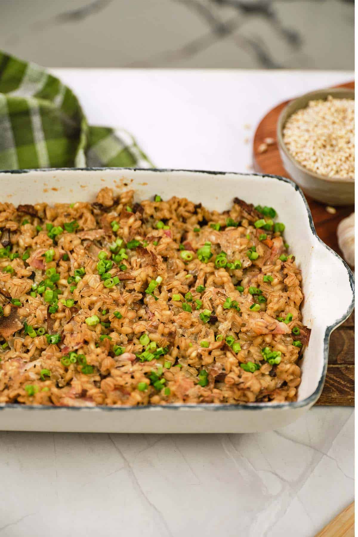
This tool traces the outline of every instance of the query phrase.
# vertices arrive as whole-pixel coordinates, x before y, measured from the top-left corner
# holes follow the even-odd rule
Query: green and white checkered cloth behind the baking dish
[[[125,130],[92,127],[77,97],[34,63],[0,52],[0,169],[151,168]]]

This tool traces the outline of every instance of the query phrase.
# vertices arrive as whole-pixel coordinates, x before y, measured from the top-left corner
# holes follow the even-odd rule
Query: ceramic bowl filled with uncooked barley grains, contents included
[[[354,203],[354,90],[306,93],[283,109],[277,144],[284,168],[313,199]]]

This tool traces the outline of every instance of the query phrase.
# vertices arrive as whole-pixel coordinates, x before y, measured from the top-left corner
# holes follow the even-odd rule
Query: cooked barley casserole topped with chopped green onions
[[[275,209],[0,204],[0,403],[295,401],[310,330]]]

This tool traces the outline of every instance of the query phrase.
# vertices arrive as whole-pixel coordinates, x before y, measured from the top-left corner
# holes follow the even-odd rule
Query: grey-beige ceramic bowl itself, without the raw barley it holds
[[[297,112],[297,110],[301,110],[301,108],[305,108],[310,100],[326,99],[328,95],[341,99],[354,99],[354,90],[332,88],[311,91],[291,101],[283,108],[277,121],[277,145],[279,146],[284,168],[295,182],[301,186],[305,194],[328,205],[351,205],[354,204],[354,178],[338,179],[326,177],[304,168],[289,153],[283,142],[282,131],[290,115]]]

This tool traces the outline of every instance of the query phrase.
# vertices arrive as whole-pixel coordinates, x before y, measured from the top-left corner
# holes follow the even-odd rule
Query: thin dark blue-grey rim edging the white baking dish
[[[14,175],[19,173],[29,173],[29,172],[48,172],[52,173],[54,171],[105,171],[105,170],[128,170],[128,171],[144,171],[144,172],[155,172],[155,173],[168,173],[168,172],[188,172],[188,173],[207,173],[208,175],[236,175],[236,176],[257,176],[257,177],[271,177],[272,179],[277,179],[279,181],[283,181],[284,183],[289,183],[298,193],[301,195],[301,198],[303,199],[303,202],[306,207],[306,211],[308,214],[308,219],[310,223],[310,228],[312,231],[312,234],[317,238],[317,240],[335,257],[337,257],[342,265],[345,267],[348,278],[349,278],[349,284],[350,288],[352,289],[352,301],[350,302],[348,309],[344,315],[342,315],[337,321],[335,321],[330,326],[327,326],[324,336],[324,347],[323,347],[323,358],[324,358],[324,366],[322,375],[319,379],[317,388],[311,394],[309,397],[306,397],[302,401],[293,401],[288,403],[245,403],[245,404],[226,404],[226,403],[169,403],[169,404],[163,404],[163,405],[142,405],[137,407],[130,407],[130,406],[121,406],[121,407],[109,407],[105,405],[96,405],[96,407],[55,407],[55,406],[45,406],[45,405],[25,405],[20,403],[0,403],[0,410],[5,410],[8,408],[12,409],[20,409],[20,410],[71,410],[71,411],[83,411],[83,410],[89,410],[89,411],[98,411],[98,410],[105,410],[107,412],[111,411],[126,411],[126,410],[158,410],[158,409],[166,409],[166,410],[198,410],[206,411],[216,411],[216,410],[270,410],[270,409],[281,409],[281,410],[290,410],[290,409],[299,409],[303,407],[307,407],[310,404],[315,403],[318,400],[318,397],[322,393],[324,381],[326,378],[326,372],[327,372],[327,365],[328,365],[328,347],[330,343],[330,335],[332,331],[337,328],[342,322],[346,320],[346,318],[352,313],[354,308],[354,276],[352,271],[350,270],[347,263],[342,259],[338,253],[336,253],[332,248],[327,246],[317,235],[315,224],[313,223],[311,210],[308,206],[307,200],[304,197],[304,194],[301,190],[301,188],[296,185],[291,179],[287,179],[286,177],[281,177],[278,175],[271,175],[269,173],[240,173],[240,172],[224,172],[224,171],[208,171],[208,170],[180,170],[180,169],[166,169],[166,168],[113,168],[111,166],[106,166],[104,168],[36,168],[31,170],[0,170],[0,176],[2,173],[12,173]]]

